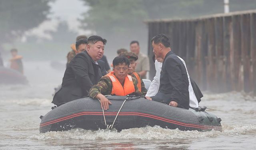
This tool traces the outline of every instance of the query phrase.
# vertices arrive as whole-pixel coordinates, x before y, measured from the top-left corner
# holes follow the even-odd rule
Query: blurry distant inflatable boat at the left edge
[[[16,70],[0,67],[0,84],[28,84],[28,80]]]

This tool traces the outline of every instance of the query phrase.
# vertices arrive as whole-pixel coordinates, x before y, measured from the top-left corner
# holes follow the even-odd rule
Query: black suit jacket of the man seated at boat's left
[[[66,68],[61,88],[54,95],[52,103],[59,106],[87,96],[90,88],[101,77],[99,65],[95,64],[86,51],[76,54]]]

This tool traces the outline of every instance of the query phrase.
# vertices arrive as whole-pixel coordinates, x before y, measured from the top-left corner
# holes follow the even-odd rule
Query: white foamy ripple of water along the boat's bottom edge
[[[223,126],[223,132],[209,131],[181,131],[178,129],[164,129],[160,126],[146,126],[144,128],[125,129],[121,132],[117,130],[84,130],[72,129],[69,131],[57,131],[41,133],[30,136],[30,139],[35,140],[172,140],[172,139],[186,139],[186,138],[208,138],[218,135],[242,135],[248,131],[255,131],[255,125],[244,126]]]

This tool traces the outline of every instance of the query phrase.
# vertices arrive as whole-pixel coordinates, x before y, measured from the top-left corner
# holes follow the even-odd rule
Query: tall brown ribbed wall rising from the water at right
[[[253,92],[256,95],[256,10],[189,20],[148,20],[151,38],[163,33],[203,90]],[[155,75],[150,62],[150,79]]]

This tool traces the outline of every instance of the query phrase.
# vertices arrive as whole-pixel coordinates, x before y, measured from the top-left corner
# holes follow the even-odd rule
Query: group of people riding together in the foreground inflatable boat
[[[140,53],[118,50],[118,56],[112,62],[113,70],[106,68],[102,61],[107,40],[100,36],[80,37],[71,45],[68,63],[62,80],[62,86],[54,95],[52,103],[60,106],[66,102],[85,96],[100,100],[101,108],[107,110],[111,104],[105,95],[144,97],[145,100],[162,102],[173,107],[196,108],[202,98],[198,86],[190,78],[184,60],[174,54],[170,40],[164,34],[152,38],[156,76],[149,89],[145,88],[143,78],[148,59]],[[137,41],[132,44],[138,45]],[[136,62],[140,59],[140,68],[136,71]],[[107,64],[108,66],[108,64]]]

